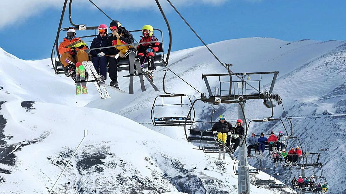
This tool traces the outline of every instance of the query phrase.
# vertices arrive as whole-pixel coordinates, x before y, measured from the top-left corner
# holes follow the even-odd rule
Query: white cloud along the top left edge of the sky
[[[228,0],[171,0],[176,6],[191,6],[193,4],[217,5]],[[156,7],[155,0],[94,0],[101,8],[113,9],[138,9],[143,7]],[[39,14],[47,8],[62,9],[64,0],[1,0],[0,29],[8,24],[16,22],[16,26],[25,22],[31,16]],[[162,6],[167,6],[167,1],[160,0]],[[74,0],[73,5],[86,6],[91,4],[89,1]],[[68,11],[68,7],[67,10]]]

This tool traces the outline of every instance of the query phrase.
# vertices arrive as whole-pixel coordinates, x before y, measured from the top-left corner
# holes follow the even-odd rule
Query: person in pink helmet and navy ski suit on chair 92
[[[108,27],[106,24],[101,24],[98,27],[99,34],[91,42],[90,48],[100,48],[111,46],[108,41]],[[102,76],[101,79],[107,79],[107,57],[108,49],[97,49],[91,50],[90,54],[92,56],[92,63],[97,71],[97,73]]]

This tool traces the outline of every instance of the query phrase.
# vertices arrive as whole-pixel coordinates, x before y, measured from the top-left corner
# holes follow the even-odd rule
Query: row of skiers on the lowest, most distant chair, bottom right
[[[293,189],[296,189],[296,188],[302,189],[304,186],[304,189],[310,188],[312,191],[322,190],[322,193],[327,192],[327,189],[328,189],[328,185],[326,184],[326,182],[324,182],[323,185],[321,185],[321,183],[318,183],[316,185],[314,176],[310,176],[310,180],[309,180],[309,177],[306,177],[305,180],[303,180],[302,176],[299,176],[298,180],[297,178],[293,177],[291,183],[292,183]]]

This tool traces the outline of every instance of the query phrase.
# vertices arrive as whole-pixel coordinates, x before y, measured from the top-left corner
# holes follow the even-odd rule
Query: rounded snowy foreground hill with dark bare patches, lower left
[[[13,153],[1,161],[0,193],[48,192],[85,128],[88,136],[58,182],[57,193],[75,193],[90,173],[85,193],[237,193],[231,161],[195,152],[191,145],[120,115],[20,100],[3,103],[1,114],[4,134],[11,137],[3,139],[4,148]]]

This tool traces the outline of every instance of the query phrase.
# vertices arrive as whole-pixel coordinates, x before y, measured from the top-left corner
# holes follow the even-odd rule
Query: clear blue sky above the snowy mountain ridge
[[[49,58],[63,5],[62,0],[50,1],[50,6],[47,4],[42,7],[42,4],[38,4],[36,8],[34,6],[30,9],[23,5],[23,10],[10,9],[13,5],[8,3],[10,13],[6,13],[5,5],[2,13],[4,16],[11,14],[18,17],[9,17],[8,21],[5,18],[0,23],[0,47],[22,59]],[[74,23],[87,26],[98,26],[100,23],[109,25],[110,20],[99,10],[77,1],[75,0],[73,8]],[[137,0],[128,1],[131,4]],[[109,8],[107,2],[94,2],[99,2],[111,18],[121,21],[128,30],[140,29],[146,24],[162,29],[165,47],[168,46],[167,27],[156,4],[143,4],[143,8],[127,4],[118,7],[112,5],[113,7]],[[272,37],[287,41],[346,40],[346,1],[199,0],[191,4],[184,4],[181,0],[172,2],[178,4],[177,8],[181,14],[206,43],[245,37]],[[164,10],[173,32],[172,51],[202,45],[171,7],[164,5]],[[68,14],[65,15],[64,21],[63,26],[69,27]],[[138,40],[139,34],[134,36]]]

